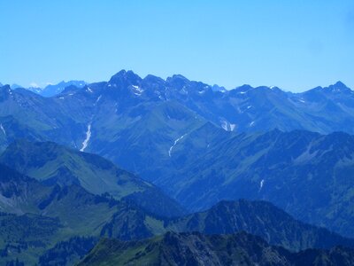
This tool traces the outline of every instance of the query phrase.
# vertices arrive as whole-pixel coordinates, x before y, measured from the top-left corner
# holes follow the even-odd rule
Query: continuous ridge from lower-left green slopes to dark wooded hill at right
[[[4,243],[0,246],[4,254],[2,262],[17,258],[35,263],[40,255],[57,262],[63,253],[78,259],[82,257],[82,250],[89,251],[89,246],[99,237],[127,241],[150,238],[166,231],[205,234],[248,231],[294,251],[354,246],[352,239],[298,222],[262,201],[221,202],[204,213],[162,218],[127,201],[93,195],[78,184],[42,184],[3,165],[0,170],[0,210],[8,213],[0,216],[0,236]],[[44,247],[50,249],[50,253],[42,253]]]

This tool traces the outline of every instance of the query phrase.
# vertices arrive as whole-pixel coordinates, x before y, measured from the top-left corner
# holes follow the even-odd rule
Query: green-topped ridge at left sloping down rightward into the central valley
[[[87,192],[109,194],[115,200],[130,200],[156,215],[170,217],[185,213],[155,185],[116,167],[111,161],[53,142],[19,140],[9,145],[0,162],[43,184],[81,185]]]

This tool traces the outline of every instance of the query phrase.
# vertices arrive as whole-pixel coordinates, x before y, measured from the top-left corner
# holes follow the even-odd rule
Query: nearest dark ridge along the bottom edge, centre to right
[[[335,247],[290,253],[245,232],[204,236],[167,232],[153,239],[102,239],[79,265],[352,265],[354,250]]]

